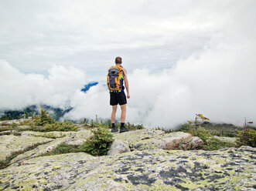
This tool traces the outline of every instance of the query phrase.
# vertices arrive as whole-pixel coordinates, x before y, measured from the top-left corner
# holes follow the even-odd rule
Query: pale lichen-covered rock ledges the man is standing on
[[[256,149],[217,151],[185,132],[142,129],[114,133],[108,156],[73,152],[42,156],[60,143],[80,145],[78,132],[14,132],[0,136],[0,190],[255,190]],[[15,156],[14,156],[15,153]]]

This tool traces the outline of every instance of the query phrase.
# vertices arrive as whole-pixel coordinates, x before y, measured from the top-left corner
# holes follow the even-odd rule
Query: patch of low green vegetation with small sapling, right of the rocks
[[[204,117],[202,114],[196,114],[194,121],[188,121],[188,123],[181,126],[179,131],[189,132],[193,136],[198,136],[203,140],[204,145],[199,149],[215,150],[225,147],[240,147],[240,146],[252,146],[256,147],[256,129],[248,126],[246,123],[244,128],[233,126],[230,124],[210,124],[210,119]],[[248,122],[253,123],[253,122]],[[236,142],[225,142],[220,139],[214,138],[214,136],[230,136],[236,137]]]

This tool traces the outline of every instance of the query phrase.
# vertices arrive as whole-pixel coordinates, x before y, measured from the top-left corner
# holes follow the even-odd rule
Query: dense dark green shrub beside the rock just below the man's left
[[[107,155],[108,150],[114,141],[113,135],[111,132],[109,132],[109,129],[104,127],[98,127],[97,129],[91,131],[94,135],[82,144],[80,150],[87,152],[92,156]]]

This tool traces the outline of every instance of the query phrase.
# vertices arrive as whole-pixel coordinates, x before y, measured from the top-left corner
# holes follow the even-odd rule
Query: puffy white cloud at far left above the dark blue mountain
[[[48,72],[47,78],[24,74],[0,60],[0,109],[22,109],[38,103],[63,108],[73,92],[87,82],[85,73],[73,67],[56,65]]]

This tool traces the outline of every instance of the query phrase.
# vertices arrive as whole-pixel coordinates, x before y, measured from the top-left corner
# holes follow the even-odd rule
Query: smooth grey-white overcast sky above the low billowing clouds
[[[0,58],[22,72],[54,65],[101,79],[116,56],[132,71],[170,68],[221,35],[254,1],[0,1]],[[246,12],[246,9],[243,9]],[[239,24],[239,23],[237,23]]]

